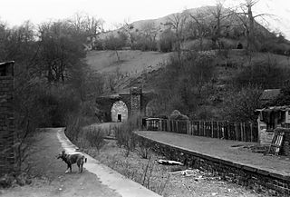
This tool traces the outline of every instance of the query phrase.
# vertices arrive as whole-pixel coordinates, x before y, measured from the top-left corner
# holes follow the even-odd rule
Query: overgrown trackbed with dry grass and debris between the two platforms
[[[161,157],[154,153],[150,153],[148,159],[142,159],[135,151],[126,156],[126,150],[118,147],[115,141],[106,141],[100,153],[93,149],[87,149],[86,152],[101,163],[162,196],[271,196],[266,192],[256,192],[256,188],[253,187],[245,188],[225,182],[211,172],[194,170],[193,176],[182,175],[177,171],[186,170],[186,166],[156,163]]]

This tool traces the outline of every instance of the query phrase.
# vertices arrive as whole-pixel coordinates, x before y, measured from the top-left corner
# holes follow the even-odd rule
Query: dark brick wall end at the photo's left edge
[[[13,62],[0,64],[0,175],[14,170]]]

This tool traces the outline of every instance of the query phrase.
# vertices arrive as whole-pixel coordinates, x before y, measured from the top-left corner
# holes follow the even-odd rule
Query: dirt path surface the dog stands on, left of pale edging
[[[77,167],[73,166],[72,173],[64,173],[65,163],[55,158],[55,155],[63,150],[55,129],[39,133],[36,141],[36,153],[30,159],[32,172],[36,177],[33,183],[0,191],[1,196],[121,196],[103,185],[95,174],[87,170],[78,173]]]

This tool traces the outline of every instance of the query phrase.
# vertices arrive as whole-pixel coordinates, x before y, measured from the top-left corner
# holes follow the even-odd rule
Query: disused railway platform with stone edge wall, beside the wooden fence
[[[290,158],[253,153],[257,143],[168,132],[135,132],[167,159],[215,172],[245,186],[259,185],[290,196]]]

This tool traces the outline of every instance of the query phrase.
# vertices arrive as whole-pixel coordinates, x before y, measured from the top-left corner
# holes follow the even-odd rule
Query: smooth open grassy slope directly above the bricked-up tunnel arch
[[[105,78],[113,77],[116,92],[123,92],[135,85],[134,82],[142,74],[151,73],[164,66],[170,53],[123,50],[118,51],[118,55],[120,61],[115,51],[91,51],[87,54],[86,62]]]

